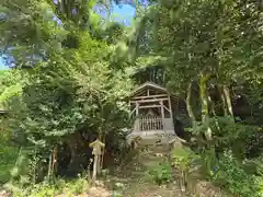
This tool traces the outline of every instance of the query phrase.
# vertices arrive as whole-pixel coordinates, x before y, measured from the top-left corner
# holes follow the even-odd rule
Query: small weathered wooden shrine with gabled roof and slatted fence
[[[146,82],[129,97],[135,123],[130,136],[174,135],[172,99],[167,89]]]

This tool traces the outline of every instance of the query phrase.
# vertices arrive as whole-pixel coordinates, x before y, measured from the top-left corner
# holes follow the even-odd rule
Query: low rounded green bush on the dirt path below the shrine
[[[148,171],[150,178],[158,185],[172,181],[172,167],[169,163],[159,163]]]

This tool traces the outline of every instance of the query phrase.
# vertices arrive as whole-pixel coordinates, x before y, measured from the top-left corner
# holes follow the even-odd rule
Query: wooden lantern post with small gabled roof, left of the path
[[[94,155],[94,162],[93,162],[93,173],[92,173],[92,181],[93,183],[96,179],[96,173],[101,172],[101,166],[100,166],[100,158],[102,154],[102,148],[105,147],[103,142],[101,142],[99,139],[90,143],[90,147],[93,148],[92,154]]]

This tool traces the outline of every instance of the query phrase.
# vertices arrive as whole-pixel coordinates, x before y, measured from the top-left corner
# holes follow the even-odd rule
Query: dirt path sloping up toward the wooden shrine
[[[110,176],[106,186],[119,192],[123,197],[186,197],[175,179],[171,184],[159,186],[147,176],[147,171],[165,160],[163,153],[159,154],[161,157],[156,157],[155,151],[141,152],[137,159],[115,172],[114,176]],[[121,185],[119,188],[116,188],[117,184]]]

